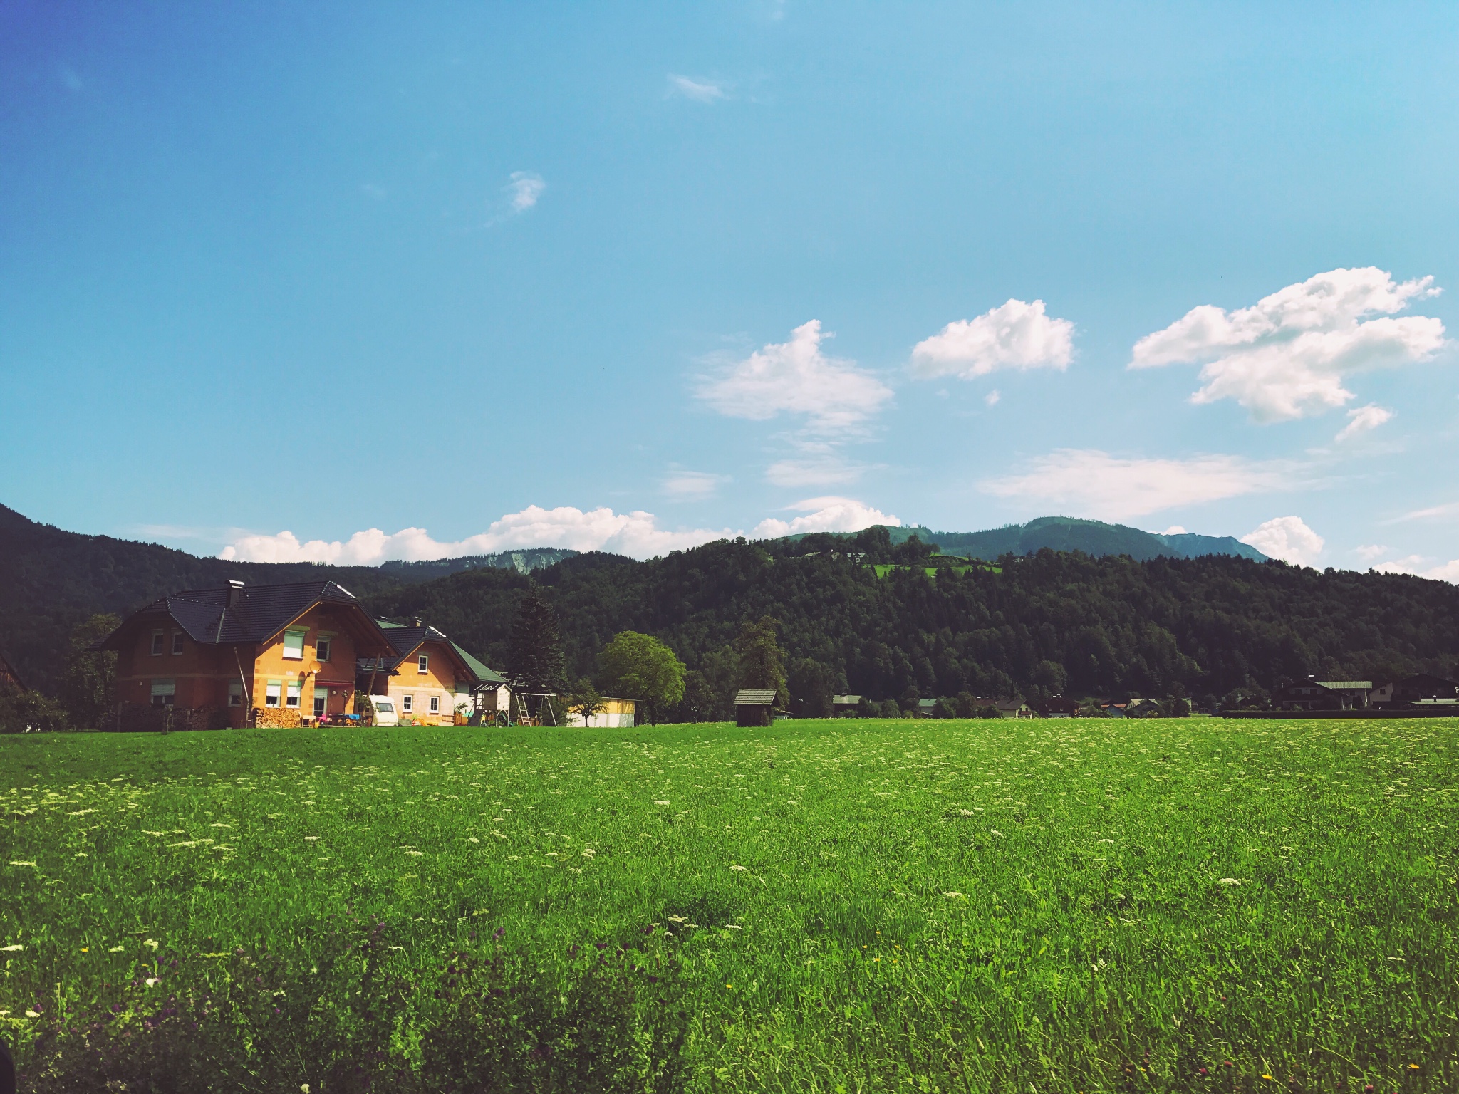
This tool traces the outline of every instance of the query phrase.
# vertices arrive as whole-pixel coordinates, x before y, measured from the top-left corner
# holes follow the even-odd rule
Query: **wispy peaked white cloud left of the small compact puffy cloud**
[[[821,353],[820,321],[791,331],[741,362],[700,381],[699,398],[721,414],[754,422],[804,414],[811,433],[859,430],[891,398],[891,388],[852,360]]]

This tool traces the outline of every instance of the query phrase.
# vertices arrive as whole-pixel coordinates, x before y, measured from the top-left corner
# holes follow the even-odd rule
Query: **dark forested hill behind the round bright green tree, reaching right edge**
[[[878,543],[880,534],[880,543]],[[839,550],[837,550],[839,548]],[[719,694],[741,621],[770,614],[794,665],[813,659],[877,699],[959,691],[1029,696],[1223,696],[1281,677],[1450,672],[1459,588],[1401,575],[1296,569],[1228,556],[1091,559],[1039,551],[998,567],[915,562],[884,529],[851,543],[713,543],[651,562],[584,554],[537,575],[556,605],[569,668],[588,675],[616,632],[667,640]],[[458,573],[371,598],[378,614],[420,614],[500,664],[528,579]]]

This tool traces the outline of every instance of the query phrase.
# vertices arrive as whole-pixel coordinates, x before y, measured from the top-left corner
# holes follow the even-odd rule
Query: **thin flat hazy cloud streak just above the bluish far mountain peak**
[[[1021,474],[979,483],[985,493],[1015,497],[1026,508],[1053,505],[1071,516],[1106,521],[1290,486],[1291,468],[1275,462],[1253,462],[1233,455],[1126,459],[1097,449],[1072,448],[1033,459]]]

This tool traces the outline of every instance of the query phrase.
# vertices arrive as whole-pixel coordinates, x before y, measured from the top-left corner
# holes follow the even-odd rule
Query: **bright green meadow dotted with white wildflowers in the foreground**
[[[0,1023],[34,1090],[1452,1091],[1456,760],[1447,721],[0,738]]]

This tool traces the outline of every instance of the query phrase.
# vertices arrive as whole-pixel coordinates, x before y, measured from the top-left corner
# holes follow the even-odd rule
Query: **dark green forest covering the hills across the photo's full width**
[[[505,664],[514,614],[535,581],[560,620],[570,680],[594,675],[616,633],[638,630],[667,642],[715,702],[734,686],[741,624],[765,616],[779,624],[792,697],[800,675],[871,699],[1214,699],[1309,672],[1447,675],[1459,659],[1459,588],[1446,582],[1224,554],[1135,560],[1043,548],[961,565],[931,551],[872,528],[721,541],[649,562],[579,554],[531,578],[492,566],[436,578],[430,567],[197,559],[0,508],[0,646],[26,683],[54,694],[71,630],[95,613],[226,578],[328,576],[375,614],[422,616],[492,665]],[[891,569],[878,578],[872,563]]]

